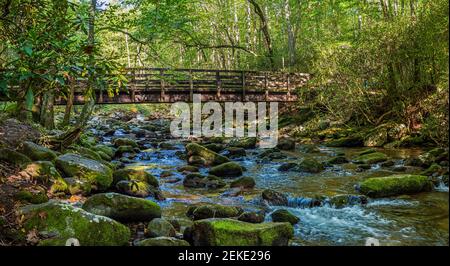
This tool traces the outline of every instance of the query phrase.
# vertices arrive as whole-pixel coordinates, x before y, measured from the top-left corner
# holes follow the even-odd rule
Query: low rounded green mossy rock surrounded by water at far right
[[[422,175],[392,175],[364,180],[359,192],[372,198],[389,197],[431,191],[433,183]]]

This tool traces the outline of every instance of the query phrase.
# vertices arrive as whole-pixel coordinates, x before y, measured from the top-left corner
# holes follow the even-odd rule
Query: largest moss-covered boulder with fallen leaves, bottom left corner
[[[39,245],[64,246],[67,239],[76,238],[81,246],[125,246],[131,237],[125,225],[55,201],[27,205],[20,214],[24,215],[26,232],[36,229],[52,236]]]

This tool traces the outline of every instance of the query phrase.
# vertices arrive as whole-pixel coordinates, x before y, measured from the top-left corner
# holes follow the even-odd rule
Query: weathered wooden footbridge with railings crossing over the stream
[[[202,102],[270,101],[293,102],[295,89],[302,87],[310,75],[304,73],[207,70],[207,69],[126,69],[128,80],[122,88],[95,91],[97,104],[192,102],[201,94]],[[85,102],[87,80],[73,82],[73,104]],[[57,97],[56,105],[65,105]]]

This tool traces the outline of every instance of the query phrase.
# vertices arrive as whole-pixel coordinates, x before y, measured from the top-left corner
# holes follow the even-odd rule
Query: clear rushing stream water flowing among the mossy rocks
[[[256,180],[255,189],[239,196],[231,196],[227,189],[187,189],[183,187],[183,175],[175,169],[186,165],[176,156],[184,151],[180,141],[171,140],[174,150],[149,148],[142,151],[134,163],[127,167],[149,171],[159,178],[165,201],[159,204],[163,216],[180,218],[188,206],[198,202],[238,205],[243,208],[257,209],[256,202],[261,191],[266,188],[287,193],[290,196],[289,207],[270,207],[270,211],[286,208],[300,218],[295,225],[294,245],[365,245],[366,238],[373,237],[381,245],[448,245],[449,244],[449,196],[448,187],[439,185],[433,192],[410,196],[370,199],[366,205],[354,205],[335,208],[329,205],[309,208],[302,204],[304,197],[333,196],[338,194],[357,194],[354,186],[368,177],[393,174],[379,165],[364,172],[358,172],[355,165],[343,164],[326,168],[319,174],[299,172],[280,172],[277,170],[285,161],[312,156],[320,161],[332,158],[337,152],[345,153],[347,158],[361,151],[350,148],[321,147],[316,153],[286,152],[291,158],[273,161],[261,161],[257,154],[261,150],[247,150],[247,156],[237,160],[245,166],[244,175]],[[401,166],[405,158],[417,156],[419,149],[382,150]],[[161,177],[163,171],[172,171],[172,176]],[[202,170],[204,173],[206,169]],[[417,172],[419,169],[408,169]],[[270,212],[269,212],[270,213]],[[270,221],[270,215],[266,220]],[[186,218],[187,220],[187,218]],[[183,223],[182,223],[183,224]]]

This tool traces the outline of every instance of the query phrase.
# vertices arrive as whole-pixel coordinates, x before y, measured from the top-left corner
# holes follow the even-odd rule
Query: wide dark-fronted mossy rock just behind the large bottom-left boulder
[[[161,208],[155,202],[118,193],[91,196],[82,208],[90,213],[121,222],[150,221],[161,217]]]

